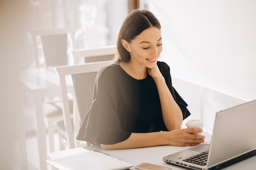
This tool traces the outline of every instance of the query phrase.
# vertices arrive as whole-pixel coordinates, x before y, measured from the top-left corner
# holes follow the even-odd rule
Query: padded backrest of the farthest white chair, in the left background
[[[45,66],[62,66],[68,64],[68,35],[70,35],[72,49],[76,48],[75,29],[49,29],[31,31],[34,46],[36,68],[40,68],[40,46],[37,37],[41,38]],[[38,49],[39,47],[39,49]]]

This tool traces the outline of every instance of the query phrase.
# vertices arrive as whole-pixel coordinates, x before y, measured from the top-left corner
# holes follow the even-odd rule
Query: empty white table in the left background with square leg
[[[46,126],[43,115],[43,98],[45,96],[61,96],[61,88],[58,75],[54,67],[31,68],[25,70],[20,76],[25,88],[34,95],[36,109],[36,137],[38,144],[40,170],[46,170]],[[72,82],[71,79],[69,82]],[[72,86],[67,86],[68,91],[72,92]]]

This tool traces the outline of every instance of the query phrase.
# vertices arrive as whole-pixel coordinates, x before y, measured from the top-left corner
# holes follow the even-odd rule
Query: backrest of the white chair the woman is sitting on
[[[56,71],[59,75],[61,85],[63,117],[65,131],[67,134],[67,144],[69,148],[75,147],[76,135],[74,135],[75,128],[73,128],[72,126],[72,120],[70,115],[70,106],[67,97],[66,75],[72,76],[72,81],[74,84],[75,99],[77,102],[77,106],[74,106],[74,108],[78,107],[79,113],[83,113],[83,115],[85,115],[90,105],[92,104],[93,86],[96,74],[101,67],[110,63],[111,61],[103,61],[56,67]],[[73,115],[77,115],[77,110],[74,110]],[[75,124],[77,124],[77,122],[75,122]]]

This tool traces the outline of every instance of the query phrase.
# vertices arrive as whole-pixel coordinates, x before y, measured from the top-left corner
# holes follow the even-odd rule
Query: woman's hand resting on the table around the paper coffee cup
[[[201,128],[185,128],[171,130],[166,136],[168,145],[172,146],[195,146],[204,143],[205,136],[195,135],[193,132],[202,132]]]

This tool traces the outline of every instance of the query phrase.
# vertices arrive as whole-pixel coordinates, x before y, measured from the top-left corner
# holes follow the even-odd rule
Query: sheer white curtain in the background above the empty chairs
[[[128,1],[119,0],[34,0],[30,2],[32,29],[75,28],[77,48],[116,43]]]

